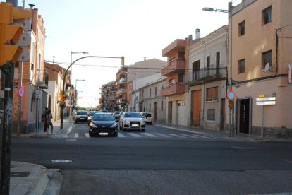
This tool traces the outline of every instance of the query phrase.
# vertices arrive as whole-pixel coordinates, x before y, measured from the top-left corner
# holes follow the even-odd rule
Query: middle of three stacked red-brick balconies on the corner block
[[[162,69],[162,76],[168,76],[171,73],[184,73],[185,59],[174,59],[169,61]]]

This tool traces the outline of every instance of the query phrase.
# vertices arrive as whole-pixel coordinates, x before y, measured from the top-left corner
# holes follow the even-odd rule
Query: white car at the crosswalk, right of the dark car
[[[120,130],[145,131],[145,122],[139,112],[123,112],[120,118]]]

